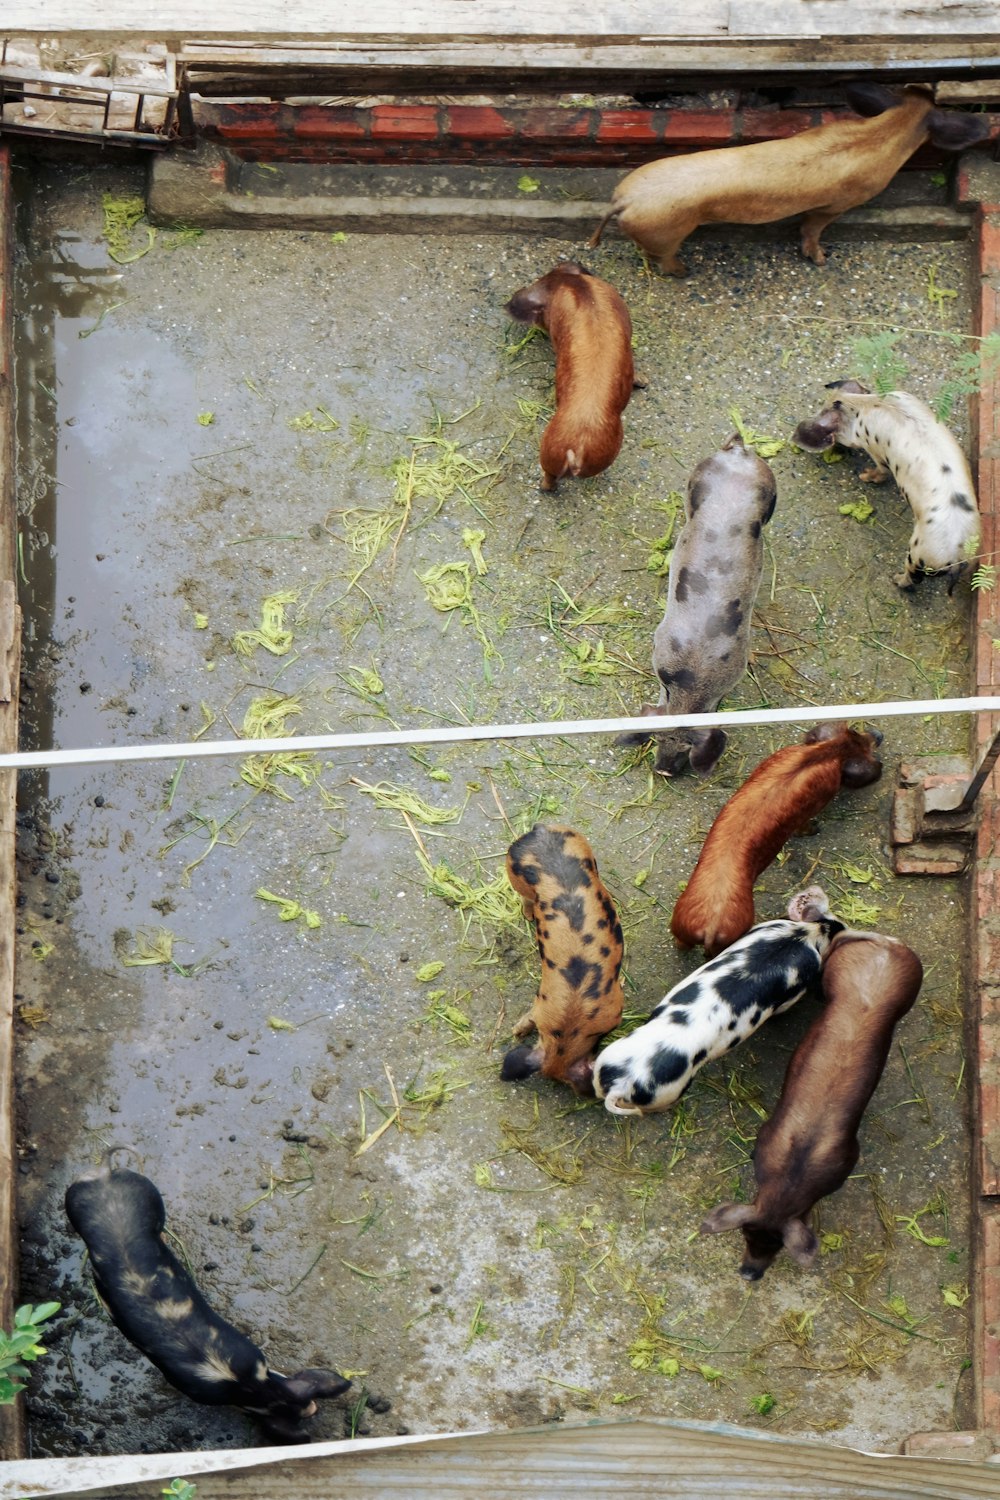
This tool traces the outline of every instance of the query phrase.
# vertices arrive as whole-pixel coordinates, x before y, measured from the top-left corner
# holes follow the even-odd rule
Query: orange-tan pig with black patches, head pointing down
[[[535,924],[541,981],[534,1005],[514,1026],[514,1036],[537,1030],[538,1042],[513,1047],[501,1077],[541,1072],[592,1096],[595,1046],[618,1026],[624,1006],[615,902],[594,850],[573,828],[535,824],[507,850],[507,876]]]

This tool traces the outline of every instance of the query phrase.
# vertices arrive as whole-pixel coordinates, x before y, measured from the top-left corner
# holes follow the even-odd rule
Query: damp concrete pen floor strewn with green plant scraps
[[[669,916],[715,813],[801,730],[733,732],[708,780],[594,735],[295,752],[652,702],[691,468],[733,408],[787,438],[873,364],[939,398],[967,346],[948,334],[969,327],[969,246],[834,226],[819,270],[780,226],[696,238],[678,282],[609,232],[585,260],[625,296],[648,386],[615,465],[543,495],[552,351],[504,303],[579,244],[159,231],[115,264],[102,195],[141,192],[138,170],[18,180],[24,744],[288,735],[268,762],[21,777],[21,1299],[63,1305],[31,1454],[261,1440],[168,1386],[97,1304],[63,1194],[111,1148],[276,1368],[351,1376],[316,1437],[642,1413],[885,1449],[969,1425],[966,892],[894,878],[886,849],[900,762],[967,753],[964,722],[883,723],[882,782],[759,882],[759,918],[819,882],[927,978],[859,1166],[819,1206],[816,1268],[783,1256],[753,1288],[739,1236],[697,1230],[751,1192],[816,996],[661,1116],[505,1084],[538,969],[504,854],[538,819],[586,834],[636,1024],[699,963]],[[961,394],[952,424],[967,440]],[[724,706],[792,705],[804,730],[819,704],[967,690],[969,582],[895,588],[910,516],[864,462],[771,459],[751,669]]]

